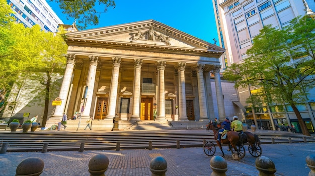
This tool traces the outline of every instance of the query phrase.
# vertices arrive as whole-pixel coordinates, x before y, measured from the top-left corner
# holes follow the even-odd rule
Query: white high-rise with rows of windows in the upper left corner
[[[7,0],[7,2],[16,12],[12,16],[25,27],[31,28],[38,24],[44,31],[56,32],[58,25],[63,24],[45,0]]]

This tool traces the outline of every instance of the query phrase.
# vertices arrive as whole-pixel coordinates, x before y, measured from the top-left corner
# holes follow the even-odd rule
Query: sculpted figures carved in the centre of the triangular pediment
[[[130,41],[137,41],[137,40],[147,40],[147,41],[160,41],[164,42],[167,45],[171,45],[170,36],[166,36],[162,33],[154,31],[153,27],[151,26],[149,30],[141,32],[132,32],[129,33]]]

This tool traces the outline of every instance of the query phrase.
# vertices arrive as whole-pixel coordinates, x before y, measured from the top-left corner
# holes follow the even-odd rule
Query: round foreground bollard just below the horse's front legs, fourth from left
[[[226,176],[227,162],[222,156],[213,156],[210,160],[210,168],[213,170],[210,176]]]

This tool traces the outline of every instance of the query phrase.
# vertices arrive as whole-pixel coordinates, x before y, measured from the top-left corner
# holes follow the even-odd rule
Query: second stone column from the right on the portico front
[[[199,121],[209,121],[208,111],[207,111],[207,102],[206,102],[206,92],[204,86],[203,78],[203,69],[204,64],[197,64],[197,80],[198,80],[198,96],[199,96],[199,110],[200,110],[200,119]]]

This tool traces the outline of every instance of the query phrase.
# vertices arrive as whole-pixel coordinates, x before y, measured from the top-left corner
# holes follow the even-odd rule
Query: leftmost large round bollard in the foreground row
[[[38,176],[43,173],[44,166],[44,161],[41,158],[31,157],[25,159],[17,166],[16,176]]]

